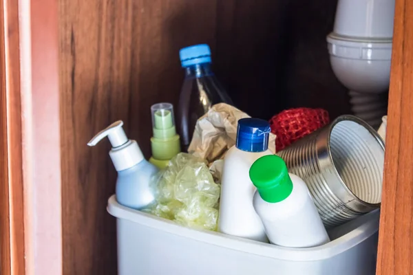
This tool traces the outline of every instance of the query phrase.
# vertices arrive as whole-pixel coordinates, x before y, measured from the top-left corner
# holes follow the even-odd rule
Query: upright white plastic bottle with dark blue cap
[[[268,150],[270,124],[257,118],[238,121],[237,141],[224,158],[218,230],[225,234],[268,243],[264,225],[254,210],[255,186],[248,173]]]

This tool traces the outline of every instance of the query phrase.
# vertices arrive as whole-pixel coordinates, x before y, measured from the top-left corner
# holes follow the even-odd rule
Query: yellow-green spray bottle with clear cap
[[[169,160],[180,153],[180,137],[176,134],[173,105],[158,103],[151,107],[153,137],[151,137],[151,164],[162,169],[168,166]]]

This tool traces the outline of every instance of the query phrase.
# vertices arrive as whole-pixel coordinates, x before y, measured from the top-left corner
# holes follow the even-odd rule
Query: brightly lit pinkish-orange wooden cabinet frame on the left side
[[[62,273],[57,11],[0,1],[2,275]]]

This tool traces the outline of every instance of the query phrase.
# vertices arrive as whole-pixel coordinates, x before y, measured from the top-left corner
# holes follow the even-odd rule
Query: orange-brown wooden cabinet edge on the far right
[[[396,0],[377,274],[413,274],[413,2]]]

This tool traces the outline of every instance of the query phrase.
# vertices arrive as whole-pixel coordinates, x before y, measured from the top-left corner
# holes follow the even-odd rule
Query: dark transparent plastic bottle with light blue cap
[[[185,79],[179,99],[178,126],[182,148],[187,151],[198,118],[213,104],[233,103],[212,72],[211,50],[207,44],[184,47],[179,56]]]

